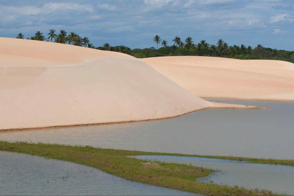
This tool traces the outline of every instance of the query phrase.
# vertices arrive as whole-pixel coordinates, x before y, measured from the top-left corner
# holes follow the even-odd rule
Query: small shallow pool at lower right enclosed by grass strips
[[[176,156],[136,156],[139,159],[168,163],[185,163],[198,167],[212,168],[217,171],[208,177],[197,178],[201,182],[213,182],[229,186],[243,186],[249,189],[259,188],[276,193],[294,194],[294,167],[246,163],[221,159]]]

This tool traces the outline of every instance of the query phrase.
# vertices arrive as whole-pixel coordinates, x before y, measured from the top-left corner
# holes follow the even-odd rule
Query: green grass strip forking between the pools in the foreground
[[[113,150],[93,148],[91,146],[68,146],[44,143],[10,143],[0,141],[0,150],[39,155],[64,161],[71,161],[98,168],[107,173],[114,174],[150,185],[169,187],[173,189],[201,193],[205,195],[277,195],[268,190],[248,190],[243,187],[229,187],[213,183],[203,183],[195,180],[197,177],[209,175],[213,170],[185,164],[163,163],[139,160],[127,156],[134,155],[176,155],[197,156],[170,153],[148,153],[140,151]],[[246,160],[251,163],[284,163],[283,160],[259,160],[248,158],[198,156],[207,158],[222,158],[230,160]],[[288,160],[284,165],[293,165]],[[289,164],[288,164],[289,163]]]

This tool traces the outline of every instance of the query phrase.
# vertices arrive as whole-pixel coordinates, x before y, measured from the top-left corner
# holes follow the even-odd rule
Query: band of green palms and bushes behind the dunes
[[[173,39],[174,44],[168,46],[166,40],[161,40],[159,35],[153,38],[153,42],[156,43],[156,48],[145,48],[139,49],[131,48],[127,46],[111,46],[109,43],[105,43],[103,46],[95,47],[90,43],[87,37],[82,38],[78,34],[71,32],[67,35],[67,32],[60,30],[60,33],[55,34],[56,30],[49,30],[49,37],[45,38],[41,31],[37,31],[35,36],[27,39],[39,40],[39,41],[55,41],[57,43],[72,44],[75,46],[84,46],[88,48],[94,48],[98,50],[107,50],[122,52],[132,55],[136,58],[147,58],[157,56],[214,56],[214,57],[225,57],[225,58],[236,58],[236,59],[268,59],[268,60],[280,60],[289,61],[294,63],[294,51],[277,50],[272,48],[265,48],[258,44],[255,48],[251,46],[233,45],[229,46],[228,43],[219,39],[215,44],[209,44],[205,40],[201,40],[195,44],[192,37],[187,37],[185,41],[181,41],[181,38],[176,36]],[[23,39],[24,35],[19,33],[16,38]],[[158,44],[161,43],[161,48],[158,48]]]

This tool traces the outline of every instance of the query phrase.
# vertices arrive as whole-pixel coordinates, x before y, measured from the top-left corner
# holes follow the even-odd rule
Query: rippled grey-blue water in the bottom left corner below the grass
[[[86,165],[0,151],[0,195],[195,195],[132,182]]]

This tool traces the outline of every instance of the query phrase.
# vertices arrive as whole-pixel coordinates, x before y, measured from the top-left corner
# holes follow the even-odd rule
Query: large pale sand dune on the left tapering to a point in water
[[[132,56],[0,38],[0,130],[169,118],[211,103]]]

